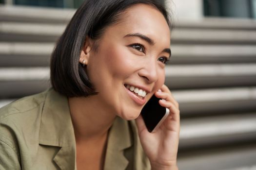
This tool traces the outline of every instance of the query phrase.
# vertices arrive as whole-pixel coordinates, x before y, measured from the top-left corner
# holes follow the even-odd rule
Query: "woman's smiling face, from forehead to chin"
[[[130,120],[164,83],[170,30],[162,14],[149,5],[128,8],[120,20],[106,28],[98,50],[89,52],[87,74],[98,92],[99,107]]]

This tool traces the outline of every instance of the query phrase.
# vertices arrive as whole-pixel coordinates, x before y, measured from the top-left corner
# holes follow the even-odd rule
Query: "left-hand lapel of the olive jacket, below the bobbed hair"
[[[76,140],[68,100],[52,89],[42,110],[39,144],[60,148],[53,161],[61,170],[76,169]]]

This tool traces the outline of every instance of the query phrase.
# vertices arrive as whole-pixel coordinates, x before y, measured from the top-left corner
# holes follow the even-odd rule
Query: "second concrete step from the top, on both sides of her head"
[[[0,41],[56,41],[63,24],[0,22]],[[255,30],[176,29],[173,44],[255,44]]]

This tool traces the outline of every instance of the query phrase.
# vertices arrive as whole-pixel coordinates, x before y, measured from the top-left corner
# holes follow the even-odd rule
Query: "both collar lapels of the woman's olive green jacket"
[[[60,148],[53,160],[61,170],[76,169],[76,140],[68,99],[53,89],[47,91],[42,109],[39,144]],[[124,170],[129,161],[123,152],[132,144],[128,122],[117,117],[109,130],[104,170]]]

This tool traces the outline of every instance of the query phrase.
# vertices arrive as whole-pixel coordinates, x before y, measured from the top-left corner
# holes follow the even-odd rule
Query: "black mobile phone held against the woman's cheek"
[[[155,95],[144,105],[140,114],[149,132],[154,133],[160,124],[168,117],[170,110],[159,104]]]

